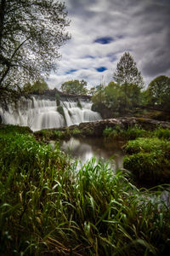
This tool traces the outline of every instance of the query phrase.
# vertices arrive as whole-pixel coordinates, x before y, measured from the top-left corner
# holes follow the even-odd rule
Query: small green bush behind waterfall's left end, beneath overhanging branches
[[[48,90],[48,84],[42,79],[34,84],[25,84],[22,89],[26,94],[38,93],[42,94],[45,90]]]

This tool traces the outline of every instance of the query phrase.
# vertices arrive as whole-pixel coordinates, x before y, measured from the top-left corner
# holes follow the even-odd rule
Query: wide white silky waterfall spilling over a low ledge
[[[92,102],[84,99],[60,99],[57,106],[55,99],[31,96],[21,98],[15,108],[0,108],[3,124],[29,126],[32,131],[62,126],[78,125],[101,119],[99,113],[91,110]]]

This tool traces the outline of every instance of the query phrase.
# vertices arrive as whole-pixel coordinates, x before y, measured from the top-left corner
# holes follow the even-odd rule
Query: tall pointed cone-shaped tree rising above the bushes
[[[144,85],[143,78],[136,67],[136,62],[133,61],[129,52],[125,52],[117,63],[113,79],[117,84],[137,84],[140,88]]]

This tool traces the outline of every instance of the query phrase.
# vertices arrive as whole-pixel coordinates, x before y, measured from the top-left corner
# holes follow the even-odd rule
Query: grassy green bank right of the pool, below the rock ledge
[[[123,139],[127,154],[123,166],[133,173],[133,179],[143,185],[170,183],[170,130],[156,128],[145,131],[135,125],[127,130],[119,126],[106,128],[106,140]]]

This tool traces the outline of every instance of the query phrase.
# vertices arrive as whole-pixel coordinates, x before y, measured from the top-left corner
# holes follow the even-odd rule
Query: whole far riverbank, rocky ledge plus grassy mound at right
[[[69,140],[71,137],[105,137],[110,142],[123,141],[125,145],[128,140],[134,140],[125,147],[131,148],[126,149],[123,167],[131,171],[133,182],[151,187],[170,183],[169,128],[170,123],[165,121],[124,117],[37,131],[34,134],[44,142]]]

